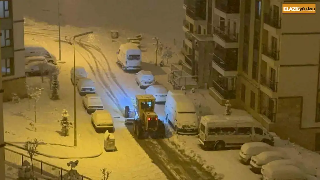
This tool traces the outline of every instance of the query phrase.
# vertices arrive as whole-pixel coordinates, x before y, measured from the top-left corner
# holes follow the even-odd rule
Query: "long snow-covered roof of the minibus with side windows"
[[[251,116],[236,116],[236,115],[206,115],[201,117],[201,123],[205,126],[212,127],[245,127],[261,125],[257,123]]]

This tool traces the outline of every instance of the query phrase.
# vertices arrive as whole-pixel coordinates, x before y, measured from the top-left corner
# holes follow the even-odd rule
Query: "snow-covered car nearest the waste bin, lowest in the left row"
[[[113,132],[113,119],[109,111],[96,110],[91,115],[91,122],[96,132]]]

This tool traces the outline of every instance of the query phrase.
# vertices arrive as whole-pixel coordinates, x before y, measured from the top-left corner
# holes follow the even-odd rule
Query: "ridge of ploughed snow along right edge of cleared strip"
[[[214,170],[214,168],[206,162],[206,160],[203,160],[199,154],[197,154],[194,150],[188,148],[186,146],[186,142],[183,141],[179,135],[173,134],[171,138],[168,139],[169,142],[171,143],[171,146],[176,148],[178,152],[192,158],[196,162],[198,162],[202,167],[208,171],[211,172],[212,176],[215,179],[223,179],[224,175],[222,174],[217,174]]]

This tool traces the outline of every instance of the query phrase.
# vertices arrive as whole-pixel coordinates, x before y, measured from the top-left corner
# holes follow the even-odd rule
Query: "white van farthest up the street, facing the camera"
[[[117,63],[123,70],[140,71],[141,70],[141,50],[134,43],[121,44],[117,54]]]

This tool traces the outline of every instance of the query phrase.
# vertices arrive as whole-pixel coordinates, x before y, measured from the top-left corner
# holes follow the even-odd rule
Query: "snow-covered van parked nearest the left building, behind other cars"
[[[32,56],[44,56],[48,60],[48,63],[57,65],[57,58],[49,51],[47,51],[44,47],[25,45],[24,53],[26,58]]]

